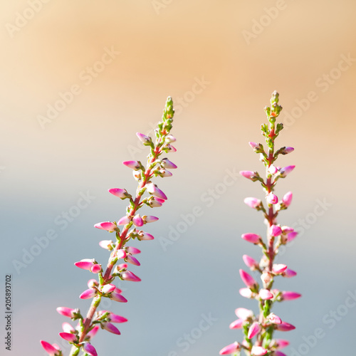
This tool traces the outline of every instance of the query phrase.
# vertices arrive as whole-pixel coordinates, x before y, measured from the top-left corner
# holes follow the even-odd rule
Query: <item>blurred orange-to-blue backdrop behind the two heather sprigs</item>
[[[234,310],[257,310],[239,295],[241,257],[261,251],[240,236],[265,226],[243,202],[263,199],[261,186],[237,172],[263,174],[248,141],[262,142],[273,90],[286,127],[277,144],[295,147],[278,164],[296,165],[278,182],[276,194],[294,194],[278,222],[300,232],[278,256],[298,276],[275,286],[303,294],[275,305],[296,326],[276,337],[290,340],[289,356],[354,353],[355,1],[19,0],[0,10],[0,284],[4,295],[11,274],[11,355],[61,342],[69,320],[56,307],[86,313],[90,300],[78,295],[91,275],[73,263],[108,261],[98,241],[111,236],[93,225],[125,214],[108,189],[135,192],[122,161],[145,161],[135,132],[152,133],[168,95],[178,169],[156,181],[164,207],[145,210],[159,216],[146,229],[155,240],[132,242],[142,282],[119,283],[128,303],[104,305],[129,322],[93,345],[101,356],[214,356],[242,340],[229,330]]]

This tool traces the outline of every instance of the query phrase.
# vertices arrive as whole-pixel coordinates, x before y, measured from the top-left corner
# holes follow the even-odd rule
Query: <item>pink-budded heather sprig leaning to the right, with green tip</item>
[[[177,166],[167,158],[160,158],[162,154],[175,152],[176,149],[171,145],[175,141],[174,136],[170,135],[173,122],[173,102],[168,98],[164,108],[162,122],[159,122],[155,130],[155,141],[147,135],[137,133],[143,145],[150,147],[150,155],[147,157],[147,166],[144,167],[140,161],[125,161],[123,164],[132,169],[133,176],[138,182],[137,191],[134,197],[126,189],[109,189],[109,192],[120,199],[128,199],[129,205],[125,216],[118,221],[104,221],[95,224],[95,228],[108,231],[115,235],[115,239],[100,241],[102,248],[110,251],[108,265],[103,266],[95,258],[85,258],[75,264],[78,268],[83,268],[91,273],[98,275],[97,279],[88,281],[88,289],[80,294],[81,299],[93,299],[85,317],[78,309],[60,307],[58,313],[77,321],[75,328],[69,323],[63,323],[63,333],[59,335],[68,341],[72,347],[70,356],[79,355],[82,350],[84,355],[97,356],[97,352],[91,340],[98,332],[99,328],[105,329],[110,333],[120,335],[120,331],[114,323],[124,323],[127,321],[120,315],[115,315],[108,310],[98,310],[102,298],[110,298],[117,302],[126,303],[127,299],[122,295],[122,290],[114,284],[115,278],[121,281],[141,281],[132,271],[129,271],[129,264],[140,266],[136,255],[140,253],[138,248],[127,246],[127,242],[133,239],[139,241],[152,240],[154,237],[146,231],[143,226],[157,221],[158,218],[152,215],[139,214],[139,210],[147,205],[150,208],[162,206],[167,196],[162,192],[157,184],[152,182],[153,177],[170,177],[172,173],[168,169]],[[147,197],[143,197],[147,192]],[[122,263],[118,263],[122,262]],[[62,356],[63,352],[58,345],[46,341],[41,341],[41,345],[50,356]]]

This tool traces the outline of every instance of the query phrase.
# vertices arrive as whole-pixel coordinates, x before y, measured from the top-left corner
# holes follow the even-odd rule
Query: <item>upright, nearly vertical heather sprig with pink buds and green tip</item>
[[[271,108],[265,108],[268,117],[268,124],[261,126],[262,135],[266,139],[268,149],[265,150],[261,143],[249,142],[253,151],[260,155],[260,160],[266,167],[266,179],[263,179],[258,172],[241,171],[240,174],[253,182],[260,182],[266,194],[266,204],[260,199],[248,197],[244,202],[252,209],[261,211],[267,225],[266,241],[258,234],[248,233],[241,237],[245,241],[255,244],[262,249],[263,256],[260,262],[248,255],[244,255],[244,263],[251,271],[257,271],[261,275],[261,286],[251,274],[243,269],[240,276],[245,288],[240,289],[240,294],[249,299],[258,301],[259,313],[255,315],[253,310],[237,308],[235,310],[237,320],[230,324],[230,329],[242,329],[244,332],[243,342],[234,342],[224,347],[220,355],[240,355],[244,350],[246,355],[260,356],[286,356],[280,350],[288,345],[287,340],[274,339],[273,332],[289,331],[295,327],[281,320],[280,317],[272,313],[273,303],[283,300],[293,300],[300,298],[299,293],[273,288],[273,282],[277,276],[285,278],[293,277],[296,272],[288,268],[286,264],[275,263],[281,245],[287,244],[295,239],[297,232],[289,226],[281,226],[277,223],[279,211],[287,209],[292,201],[293,194],[286,193],[282,199],[274,193],[278,179],[285,178],[295,166],[278,167],[275,162],[279,155],[287,155],[293,152],[293,147],[281,147],[275,150],[275,140],[283,129],[283,124],[276,124],[276,117],[281,112],[282,107],[278,105],[278,93],[274,92],[271,98]]]

